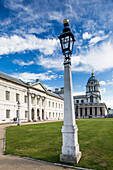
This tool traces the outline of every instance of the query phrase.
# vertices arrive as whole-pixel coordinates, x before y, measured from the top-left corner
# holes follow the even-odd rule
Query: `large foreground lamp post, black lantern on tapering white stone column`
[[[63,24],[64,29],[58,37],[64,55],[64,125],[62,127],[63,146],[60,161],[78,163],[81,152],[78,144],[78,127],[75,121],[71,76],[71,55],[75,39],[69,28],[69,20],[65,19]]]

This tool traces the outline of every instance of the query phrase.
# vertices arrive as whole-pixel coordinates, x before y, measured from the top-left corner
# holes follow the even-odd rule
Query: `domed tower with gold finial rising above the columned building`
[[[86,85],[86,96],[88,103],[99,103],[101,100],[100,85],[92,70],[91,77]]]

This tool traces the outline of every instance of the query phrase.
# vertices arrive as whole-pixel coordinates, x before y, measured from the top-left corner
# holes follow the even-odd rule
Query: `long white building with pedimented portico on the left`
[[[0,123],[18,117],[18,101],[21,121],[63,119],[63,97],[47,90],[38,79],[25,83],[0,72]]]

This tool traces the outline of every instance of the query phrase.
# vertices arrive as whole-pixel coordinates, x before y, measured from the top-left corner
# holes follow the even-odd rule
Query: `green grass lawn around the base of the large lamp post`
[[[5,154],[61,163],[63,122],[6,128]],[[95,170],[113,170],[113,119],[77,120],[82,158],[71,164]]]

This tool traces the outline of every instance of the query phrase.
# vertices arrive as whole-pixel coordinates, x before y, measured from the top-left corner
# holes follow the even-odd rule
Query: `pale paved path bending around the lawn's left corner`
[[[32,122],[22,124],[32,124]],[[14,125],[16,124],[0,125],[0,170],[64,170],[64,169],[72,170],[71,168],[50,165],[44,162],[37,162],[16,156],[3,155],[5,127]]]

